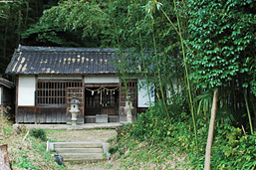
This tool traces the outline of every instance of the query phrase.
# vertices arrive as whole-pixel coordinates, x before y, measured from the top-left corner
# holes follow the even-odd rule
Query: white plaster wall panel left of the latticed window
[[[33,106],[35,105],[35,77],[19,77],[18,86],[18,105]]]

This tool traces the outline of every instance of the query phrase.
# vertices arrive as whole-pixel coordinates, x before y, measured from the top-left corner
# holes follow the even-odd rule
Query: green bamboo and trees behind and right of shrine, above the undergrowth
[[[117,65],[123,79],[132,73],[144,78],[147,88],[154,85],[166,121],[189,114],[198,151],[197,126],[209,124],[214,90],[219,93],[215,125],[254,133],[255,8],[255,1],[246,0],[67,0],[45,10],[23,34],[27,40],[49,33],[35,28],[56,28],[83,37],[84,47],[126,51]]]

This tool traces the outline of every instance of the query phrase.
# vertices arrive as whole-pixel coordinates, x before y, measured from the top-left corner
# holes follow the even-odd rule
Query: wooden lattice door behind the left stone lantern
[[[74,93],[77,95],[77,99],[80,101],[79,104],[79,110],[80,112],[77,115],[77,123],[84,123],[85,117],[84,117],[84,88],[83,87],[68,87],[67,88],[67,111],[66,111],[66,122],[67,124],[71,123],[71,104],[70,101],[74,96]]]

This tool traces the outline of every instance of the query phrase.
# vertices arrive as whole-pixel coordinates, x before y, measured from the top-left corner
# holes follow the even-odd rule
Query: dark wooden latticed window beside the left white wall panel
[[[67,103],[67,88],[81,87],[82,81],[43,81],[37,85],[36,101],[38,105],[61,105]]]

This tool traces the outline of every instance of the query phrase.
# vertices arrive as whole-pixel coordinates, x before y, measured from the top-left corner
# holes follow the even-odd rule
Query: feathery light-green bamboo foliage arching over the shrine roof
[[[160,6],[175,23],[172,2],[141,0],[61,1],[58,6],[44,11],[41,23],[69,31],[83,30],[84,38],[99,39],[101,47],[132,48],[132,52],[139,55],[123,58],[127,61],[119,64],[121,70],[142,75],[150,71],[155,76],[150,77],[155,78],[150,82],[163,89],[171,85],[174,77],[182,80],[183,71],[178,36],[158,10]],[[159,97],[163,97],[164,92],[159,91]]]

